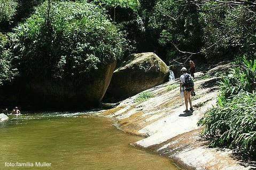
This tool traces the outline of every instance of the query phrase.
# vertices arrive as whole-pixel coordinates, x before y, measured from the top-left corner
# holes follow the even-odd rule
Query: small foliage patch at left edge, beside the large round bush
[[[16,75],[17,69],[12,66],[13,56],[6,49],[7,37],[0,33],[0,86],[10,82]]]

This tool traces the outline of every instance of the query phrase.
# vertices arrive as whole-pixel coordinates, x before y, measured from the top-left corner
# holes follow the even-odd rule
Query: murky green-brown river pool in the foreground
[[[106,118],[82,113],[9,117],[0,124],[0,169],[179,169],[131,146],[142,137],[119,131]]]

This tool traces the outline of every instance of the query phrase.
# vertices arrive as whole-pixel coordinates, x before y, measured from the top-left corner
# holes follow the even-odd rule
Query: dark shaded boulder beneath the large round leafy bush
[[[26,84],[26,92],[37,96],[37,106],[50,108],[89,108],[95,107],[102,101],[110,84],[117,61],[102,66],[90,76],[84,76],[79,83],[70,80],[49,80],[44,83],[30,80]],[[24,99],[25,96],[22,97]],[[27,99],[29,100],[29,99]]]

